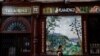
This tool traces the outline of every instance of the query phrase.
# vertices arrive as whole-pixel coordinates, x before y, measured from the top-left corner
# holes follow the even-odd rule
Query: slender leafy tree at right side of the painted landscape
[[[77,34],[78,36],[78,41],[79,44],[81,46],[81,36],[82,36],[82,32],[81,32],[81,22],[75,18],[75,20],[73,20],[73,22],[69,25],[71,28],[71,31],[73,31],[74,33]]]

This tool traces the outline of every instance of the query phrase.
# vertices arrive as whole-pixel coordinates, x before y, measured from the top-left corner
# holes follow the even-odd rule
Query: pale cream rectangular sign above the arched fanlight
[[[2,8],[3,15],[30,15],[32,14],[31,11],[31,7],[4,6]]]

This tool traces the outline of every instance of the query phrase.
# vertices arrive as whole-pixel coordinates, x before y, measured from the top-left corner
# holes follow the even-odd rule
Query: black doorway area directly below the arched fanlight
[[[28,34],[2,34],[0,56],[29,56],[30,40]]]

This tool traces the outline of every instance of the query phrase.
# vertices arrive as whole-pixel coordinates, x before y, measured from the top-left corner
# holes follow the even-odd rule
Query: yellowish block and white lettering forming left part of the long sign
[[[53,13],[75,13],[75,8],[54,8],[54,7],[46,7],[43,9],[44,14],[53,14]]]

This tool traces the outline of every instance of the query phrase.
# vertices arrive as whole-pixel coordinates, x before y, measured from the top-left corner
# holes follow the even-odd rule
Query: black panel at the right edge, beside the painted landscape
[[[91,15],[87,19],[88,52],[100,55],[100,15]]]

